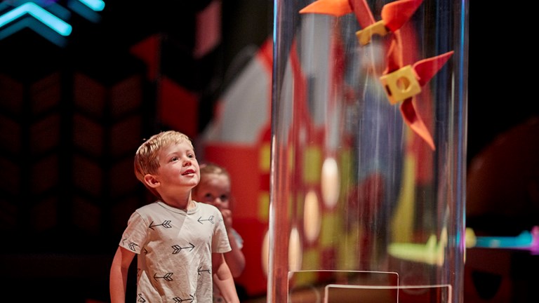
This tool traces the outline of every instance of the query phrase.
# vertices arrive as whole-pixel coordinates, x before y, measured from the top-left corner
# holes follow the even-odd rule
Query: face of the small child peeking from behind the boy
[[[226,175],[208,174],[197,187],[195,200],[220,210],[230,208],[230,180]]]

